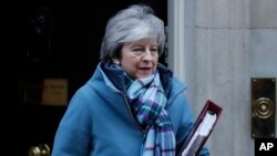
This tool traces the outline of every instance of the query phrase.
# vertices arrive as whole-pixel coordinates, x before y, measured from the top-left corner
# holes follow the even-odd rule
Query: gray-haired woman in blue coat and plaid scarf
[[[136,4],[110,19],[101,62],[70,101],[52,156],[175,156],[195,118],[186,85],[158,63],[164,23],[153,13]]]

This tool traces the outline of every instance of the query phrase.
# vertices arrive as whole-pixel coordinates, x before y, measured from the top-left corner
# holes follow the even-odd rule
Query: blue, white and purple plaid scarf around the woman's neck
[[[176,141],[171,118],[164,108],[167,100],[158,72],[133,81],[127,89],[127,96],[137,121],[146,125],[142,156],[175,156]]]

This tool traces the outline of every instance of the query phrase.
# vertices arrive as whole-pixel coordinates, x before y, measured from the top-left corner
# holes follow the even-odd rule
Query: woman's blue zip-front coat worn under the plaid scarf
[[[177,148],[195,117],[184,91],[173,77],[166,111]],[[145,132],[137,124],[127,100],[109,81],[99,64],[93,76],[72,96],[58,127],[52,156],[141,156]],[[204,147],[202,156],[207,156]]]

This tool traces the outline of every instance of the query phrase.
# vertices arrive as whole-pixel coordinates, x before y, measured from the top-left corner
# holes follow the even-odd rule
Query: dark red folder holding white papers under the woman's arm
[[[207,100],[177,156],[195,156],[213,132],[223,108]]]

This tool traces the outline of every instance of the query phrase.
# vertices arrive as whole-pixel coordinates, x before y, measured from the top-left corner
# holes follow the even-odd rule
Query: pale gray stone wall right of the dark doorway
[[[168,0],[168,34],[170,67],[195,113],[207,98],[224,107],[212,155],[254,156],[250,77],[277,77],[277,1]]]

